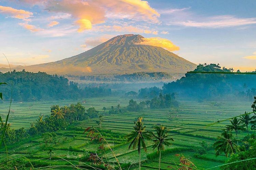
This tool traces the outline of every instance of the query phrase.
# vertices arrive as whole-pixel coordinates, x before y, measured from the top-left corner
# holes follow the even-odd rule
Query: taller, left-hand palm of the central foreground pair
[[[136,149],[138,147],[139,152],[139,169],[140,169],[140,163],[141,163],[141,147],[144,149],[145,152],[147,152],[145,138],[151,139],[153,136],[152,132],[145,131],[146,126],[143,126],[142,117],[139,117],[136,122],[134,122],[134,132],[131,132],[130,134],[126,135],[125,137],[128,139],[128,141],[131,141],[131,144],[129,145],[129,149],[132,146],[132,149]]]

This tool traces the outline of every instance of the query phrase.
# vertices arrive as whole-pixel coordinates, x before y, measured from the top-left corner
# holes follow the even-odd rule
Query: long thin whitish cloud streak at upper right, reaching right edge
[[[229,15],[203,18],[203,20],[205,21],[172,21],[169,24],[198,28],[225,28],[256,24],[256,18],[236,18]]]

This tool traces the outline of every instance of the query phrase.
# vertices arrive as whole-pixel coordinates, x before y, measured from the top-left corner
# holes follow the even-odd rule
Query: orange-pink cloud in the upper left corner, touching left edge
[[[0,13],[8,15],[12,18],[28,20],[33,13],[25,10],[17,10],[9,6],[0,6]]]

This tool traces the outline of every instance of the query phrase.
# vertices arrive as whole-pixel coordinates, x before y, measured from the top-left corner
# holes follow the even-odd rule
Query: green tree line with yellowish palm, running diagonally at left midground
[[[51,136],[54,136],[54,132],[66,129],[69,124],[98,117],[98,114],[99,111],[94,107],[85,109],[81,103],[70,104],[70,106],[63,107],[52,105],[50,114],[45,118],[44,115],[40,115],[35,123],[30,124],[30,128],[28,129],[20,128],[15,130],[11,128],[11,123],[8,123],[4,134],[4,144],[9,145],[35,135],[51,138]],[[0,134],[2,134],[5,123],[0,123]]]

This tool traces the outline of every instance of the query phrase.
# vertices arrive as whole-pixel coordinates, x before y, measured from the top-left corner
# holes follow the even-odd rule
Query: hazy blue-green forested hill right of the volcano
[[[199,64],[194,71],[233,72],[233,69],[221,68],[216,64]],[[164,93],[173,91],[181,96],[200,99],[245,98],[253,100],[256,95],[256,75],[186,73],[185,77],[180,80],[163,85]]]

